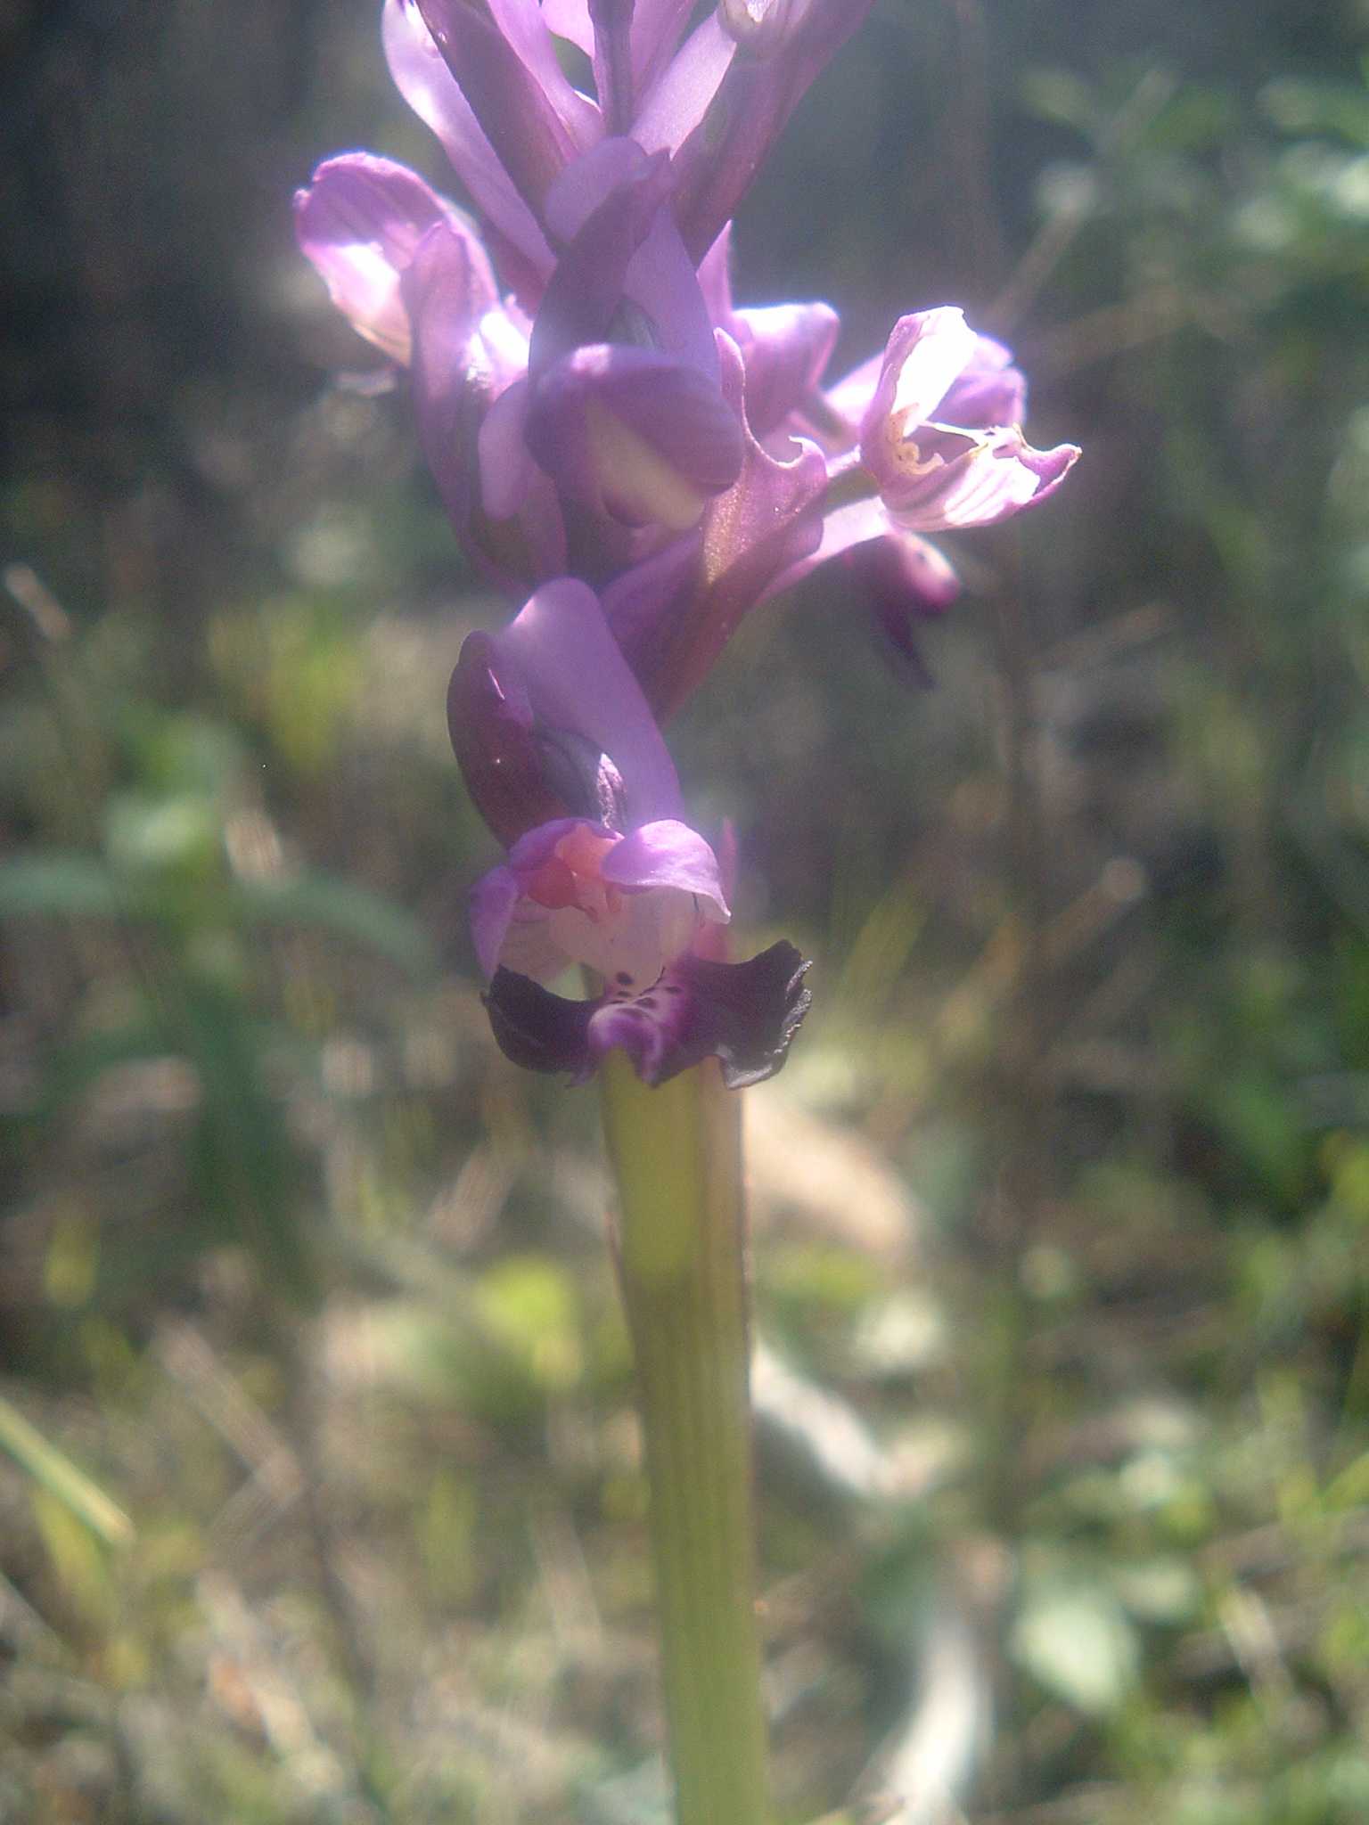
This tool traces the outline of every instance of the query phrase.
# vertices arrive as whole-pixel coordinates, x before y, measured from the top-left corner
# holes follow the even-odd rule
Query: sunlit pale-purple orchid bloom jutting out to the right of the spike
[[[838,560],[909,673],[914,626],[960,582],[929,531],[989,526],[1046,500],[1079,449],[1037,451],[1026,381],[955,308],[902,318],[887,349],[821,389],[829,305],[736,308],[726,235],[699,270],[745,433],[743,469],[690,538],[621,571],[604,611],[659,717],[705,679],[750,608]]]

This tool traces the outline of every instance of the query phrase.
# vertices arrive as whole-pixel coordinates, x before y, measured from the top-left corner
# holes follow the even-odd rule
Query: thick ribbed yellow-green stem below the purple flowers
[[[765,1825],[741,1097],[712,1060],[659,1090],[602,1069],[652,1491],[677,1825]]]

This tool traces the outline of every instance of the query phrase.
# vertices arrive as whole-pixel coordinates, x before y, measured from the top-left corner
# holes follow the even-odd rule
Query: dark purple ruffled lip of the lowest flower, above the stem
[[[745,964],[684,953],[643,993],[611,986],[595,1000],[568,1000],[531,976],[496,969],[486,995],[500,1051],[529,1071],[582,1084],[613,1046],[655,1088],[717,1058],[728,1090],[774,1077],[803,1024],[809,964],[781,938]]]

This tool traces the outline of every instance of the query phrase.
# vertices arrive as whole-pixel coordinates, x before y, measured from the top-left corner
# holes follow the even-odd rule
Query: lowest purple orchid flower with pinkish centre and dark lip
[[[473,635],[449,708],[471,794],[509,845],[471,902],[504,1053],[575,1082],[613,1046],[646,1084],[706,1057],[732,1088],[774,1075],[809,1007],[807,964],[783,940],[747,964],[717,956],[730,918],[717,856],[683,819],[593,591],[546,584],[502,633]],[[546,986],[575,964],[599,995]]]

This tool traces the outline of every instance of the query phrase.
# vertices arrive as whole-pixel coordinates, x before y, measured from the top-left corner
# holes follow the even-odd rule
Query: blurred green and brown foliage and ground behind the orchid
[[[661,1816],[593,1099],[495,1053],[489,620],[288,192],[367,0],[0,7],[0,1818]],[[748,1093],[785,1820],[1369,1816],[1362,0],[880,0],[739,223],[1086,460],[675,732]],[[341,378],[340,378],[341,376]],[[962,1812],[944,1799],[951,1790]]]

